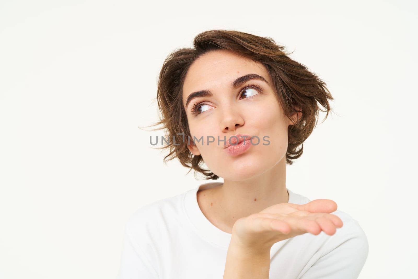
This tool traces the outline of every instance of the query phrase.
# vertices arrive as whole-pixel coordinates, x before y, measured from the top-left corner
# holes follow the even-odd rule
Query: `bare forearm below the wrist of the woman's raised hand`
[[[223,279],[268,279],[270,249],[250,251],[229,244]]]

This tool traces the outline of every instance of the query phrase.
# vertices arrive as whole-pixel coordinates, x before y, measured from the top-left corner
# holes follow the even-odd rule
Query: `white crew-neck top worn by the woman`
[[[130,216],[123,241],[119,279],[222,279],[231,234],[213,225],[197,203],[201,184],[182,194],[145,205]],[[307,197],[289,193],[289,202]],[[270,279],[354,279],[369,245],[357,220],[340,210],[334,235],[305,233],[273,244]]]

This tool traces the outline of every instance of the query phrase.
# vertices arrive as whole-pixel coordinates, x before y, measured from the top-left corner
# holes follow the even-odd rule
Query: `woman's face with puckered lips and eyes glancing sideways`
[[[250,80],[243,83],[237,80],[248,74],[252,74]],[[237,81],[235,87],[234,81]],[[255,87],[245,89],[248,85]],[[201,90],[206,90],[206,96],[200,94],[186,106],[192,93]],[[263,64],[230,51],[210,51],[189,68],[182,97],[190,133],[195,137],[195,145],[193,138],[190,139],[189,150],[201,155],[217,176],[233,181],[250,179],[284,159],[288,125],[292,122],[285,118]],[[228,142],[237,134],[257,136],[259,140],[253,138],[250,143],[246,138],[245,145],[250,144],[250,148],[242,154],[230,154],[224,148],[224,141],[218,143],[218,137]],[[203,141],[198,142],[201,137]],[[231,143],[234,140],[231,138]]]

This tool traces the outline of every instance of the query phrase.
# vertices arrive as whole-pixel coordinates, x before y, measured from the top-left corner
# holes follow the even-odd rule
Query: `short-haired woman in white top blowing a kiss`
[[[325,85],[273,39],[248,33],[206,31],[170,54],[157,96],[157,124],[173,139],[164,159],[224,182],[135,212],[119,278],[357,278],[368,254],[357,220],[285,184],[319,105],[331,111]]]

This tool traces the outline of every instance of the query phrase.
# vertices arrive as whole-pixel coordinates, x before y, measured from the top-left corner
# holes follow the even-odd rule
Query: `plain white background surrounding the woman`
[[[286,185],[359,221],[359,278],[413,276],[416,2],[288,2],[3,0],[0,278],[115,278],[127,218],[208,182],[138,127],[158,120],[163,60],[209,29],[271,37],[328,84],[338,115]]]

